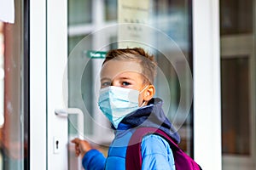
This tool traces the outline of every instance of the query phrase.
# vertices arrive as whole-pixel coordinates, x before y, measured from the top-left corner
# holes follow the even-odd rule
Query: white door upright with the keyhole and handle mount
[[[47,1],[47,164],[48,169],[68,169],[67,116],[67,0]],[[57,144],[57,145],[56,145]],[[57,150],[56,150],[57,149]]]

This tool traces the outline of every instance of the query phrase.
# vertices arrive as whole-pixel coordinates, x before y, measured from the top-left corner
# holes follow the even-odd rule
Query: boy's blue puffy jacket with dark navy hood
[[[98,150],[90,150],[84,155],[83,166],[87,170],[100,169],[125,169],[126,148],[135,131],[134,127],[158,127],[165,131],[177,143],[180,138],[172,123],[166,118],[160,99],[152,99],[147,106],[138,109],[126,116],[115,130],[115,138],[105,158]],[[114,127],[113,127],[114,128]],[[142,169],[175,169],[172,150],[158,135],[150,134],[143,138]]]

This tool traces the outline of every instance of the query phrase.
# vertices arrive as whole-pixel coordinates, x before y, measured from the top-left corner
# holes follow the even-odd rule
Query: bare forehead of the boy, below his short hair
[[[142,66],[137,61],[109,60],[102,66],[101,78],[113,78],[125,71],[143,74]]]

